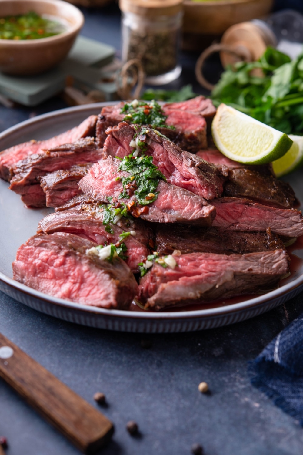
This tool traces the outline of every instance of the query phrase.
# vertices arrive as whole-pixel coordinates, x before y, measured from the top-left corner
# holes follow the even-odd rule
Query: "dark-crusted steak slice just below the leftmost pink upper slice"
[[[103,152],[97,148],[92,137],[80,139],[73,144],[61,145],[39,155],[33,154],[15,164],[15,176],[11,179],[9,188],[20,194],[27,206],[44,207],[45,195],[41,196],[39,205],[36,198],[30,198],[29,187],[33,185],[40,187],[38,177],[59,169],[70,169],[75,164],[93,163],[102,157]]]

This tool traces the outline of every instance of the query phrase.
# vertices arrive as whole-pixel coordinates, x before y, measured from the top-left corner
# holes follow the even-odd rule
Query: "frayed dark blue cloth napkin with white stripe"
[[[249,364],[251,382],[303,426],[303,316]]]

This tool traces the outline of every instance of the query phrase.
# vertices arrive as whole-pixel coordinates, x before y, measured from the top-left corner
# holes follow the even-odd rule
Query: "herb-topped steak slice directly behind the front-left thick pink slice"
[[[142,220],[125,217],[120,218],[116,224],[103,223],[104,207],[99,204],[82,204],[69,210],[50,213],[40,221],[37,233],[67,232],[97,245],[124,242],[127,247],[125,255],[128,257],[125,262],[132,272],[139,272],[138,263],[144,262],[150,254],[148,246],[153,241],[152,231]],[[131,234],[125,237],[125,233]]]

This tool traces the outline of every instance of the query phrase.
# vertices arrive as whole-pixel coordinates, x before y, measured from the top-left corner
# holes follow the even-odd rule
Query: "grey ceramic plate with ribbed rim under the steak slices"
[[[78,125],[87,116],[98,113],[104,105],[105,103],[77,106],[24,121],[0,134],[0,150],[30,139],[41,140],[60,134]],[[288,181],[297,197],[303,200],[300,173],[293,173]],[[25,208],[20,197],[8,190],[8,183],[0,181],[0,290],[25,305],[56,318],[128,332],[185,332],[253,318],[284,303],[303,289],[303,262],[296,259],[296,256],[303,258],[303,250],[298,246],[293,251],[296,255],[293,257],[293,273],[280,288],[255,298],[238,298],[237,303],[231,300],[203,309],[199,307],[185,311],[148,313],[106,310],[53,298],[13,280],[11,268],[19,246],[35,234],[38,222],[51,210]]]

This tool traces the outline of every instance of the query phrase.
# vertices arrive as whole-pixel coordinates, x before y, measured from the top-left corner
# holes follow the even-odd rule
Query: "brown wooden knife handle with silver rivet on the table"
[[[0,377],[84,453],[99,449],[114,432],[110,420],[2,334]]]

